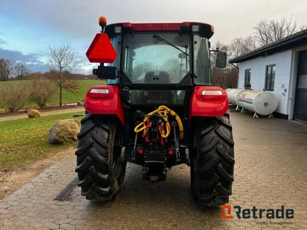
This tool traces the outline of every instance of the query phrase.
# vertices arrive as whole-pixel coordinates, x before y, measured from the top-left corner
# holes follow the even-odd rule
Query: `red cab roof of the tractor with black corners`
[[[131,23],[131,22],[119,22],[109,24],[105,27],[104,33],[107,33],[109,38],[115,35],[115,26],[122,26],[122,33],[129,32],[147,32],[147,31],[182,31],[186,33],[192,33],[192,25],[199,25],[200,34],[206,38],[211,38],[214,34],[214,28],[212,25],[202,22],[180,22],[180,23]]]

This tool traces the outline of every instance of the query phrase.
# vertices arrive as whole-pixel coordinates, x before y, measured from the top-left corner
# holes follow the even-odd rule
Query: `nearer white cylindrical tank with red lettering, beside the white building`
[[[239,107],[260,115],[270,115],[277,108],[277,98],[268,91],[248,90],[240,94]]]

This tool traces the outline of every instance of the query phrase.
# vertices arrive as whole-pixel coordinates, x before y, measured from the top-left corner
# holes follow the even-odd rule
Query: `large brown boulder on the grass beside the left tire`
[[[81,124],[77,119],[60,120],[49,130],[49,144],[63,144],[64,142],[77,140]]]

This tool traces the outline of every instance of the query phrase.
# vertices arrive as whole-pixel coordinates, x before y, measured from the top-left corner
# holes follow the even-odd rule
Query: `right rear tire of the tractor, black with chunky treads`
[[[199,127],[190,168],[192,194],[200,205],[224,205],[232,194],[235,164],[229,114],[204,119]]]

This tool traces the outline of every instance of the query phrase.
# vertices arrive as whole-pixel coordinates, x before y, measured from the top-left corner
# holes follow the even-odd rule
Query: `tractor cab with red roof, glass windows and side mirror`
[[[103,20],[102,31],[117,56],[112,63],[100,63],[94,74],[107,79],[107,85],[120,85],[121,90],[129,88],[129,99],[123,99],[131,105],[183,106],[194,86],[211,85],[212,25],[196,22],[106,25]],[[226,53],[218,53],[216,64],[225,67]]]

